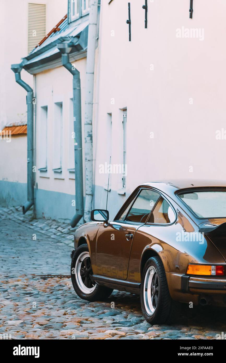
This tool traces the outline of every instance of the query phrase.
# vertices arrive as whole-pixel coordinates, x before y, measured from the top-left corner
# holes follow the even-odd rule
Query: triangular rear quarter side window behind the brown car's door
[[[169,203],[161,196],[147,223],[168,224],[175,221],[175,213]]]

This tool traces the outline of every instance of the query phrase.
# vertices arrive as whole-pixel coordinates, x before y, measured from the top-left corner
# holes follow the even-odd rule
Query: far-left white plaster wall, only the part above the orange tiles
[[[46,4],[46,34],[67,13],[67,0],[1,0],[0,130],[8,122],[26,119],[26,91],[15,82],[11,64],[28,54],[28,3]],[[33,87],[33,76],[21,78]]]

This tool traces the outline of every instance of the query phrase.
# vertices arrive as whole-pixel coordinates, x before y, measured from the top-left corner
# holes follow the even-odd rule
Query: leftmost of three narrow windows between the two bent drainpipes
[[[43,106],[40,109],[40,168],[38,170],[47,171],[47,119],[48,107]]]

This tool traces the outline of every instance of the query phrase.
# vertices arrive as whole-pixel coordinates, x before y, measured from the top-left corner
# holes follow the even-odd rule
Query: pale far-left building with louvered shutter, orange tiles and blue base
[[[15,82],[11,64],[19,63],[67,13],[67,0],[2,0],[0,13],[0,131],[6,128],[0,132],[0,205],[8,207],[24,203],[27,180],[27,138],[20,130],[27,122],[26,92]],[[32,74],[22,70],[21,78],[33,87]],[[12,125],[18,129],[7,140],[5,131]]]

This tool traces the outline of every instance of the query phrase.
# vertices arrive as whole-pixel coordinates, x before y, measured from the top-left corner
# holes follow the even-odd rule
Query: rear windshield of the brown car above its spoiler
[[[183,192],[178,197],[198,218],[226,217],[226,191]]]

